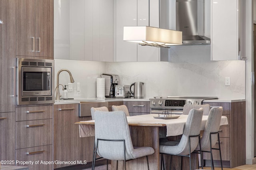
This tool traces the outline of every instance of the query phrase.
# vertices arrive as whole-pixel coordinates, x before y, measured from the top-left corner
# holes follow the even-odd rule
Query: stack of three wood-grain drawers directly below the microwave
[[[53,168],[52,118],[53,105],[16,107],[15,157],[17,166],[28,166],[33,170]],[[31,162],[22,164],[17,161]]]

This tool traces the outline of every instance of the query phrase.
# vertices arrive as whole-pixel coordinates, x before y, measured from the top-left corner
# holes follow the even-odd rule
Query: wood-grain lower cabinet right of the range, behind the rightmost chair
[[[224,167],[234,168],[246,162],[246,102],[206,103],[210,106],[222,106],[228,125],[220,127],[220,148]],[[216,144],[214,147],[218,148]],[[213,152],[214,166],[220,166],[218,150]],[[210,154],[204,153],[206,166],[210,166]]]

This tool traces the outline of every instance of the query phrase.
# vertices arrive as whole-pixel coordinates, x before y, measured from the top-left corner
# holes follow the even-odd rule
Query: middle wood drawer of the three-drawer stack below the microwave
[[[16,149],[52,144],[52,119],[16,122]]]

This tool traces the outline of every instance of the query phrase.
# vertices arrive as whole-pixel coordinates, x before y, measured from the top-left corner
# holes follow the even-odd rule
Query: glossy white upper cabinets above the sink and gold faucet
[[[114,61],[114,0],[54,1],[54,58]]]

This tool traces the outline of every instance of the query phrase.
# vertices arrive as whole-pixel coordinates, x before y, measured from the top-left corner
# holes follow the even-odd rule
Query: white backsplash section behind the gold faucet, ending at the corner
[[[57,85],[57,73],[60,69],[68,69],[74,78],[73,92],[68,93],[68,98],[96,97],[96,78],[106,72],[105,62],[54,59],[54,65],[55,87]],[[60,73],[59,83],[62,85],[70,83],[68,72],[62,71]],[[80,83],[80,92],[76,91],[76,83]],[[60,86],[60,89],[62,89],[62,86]]]

